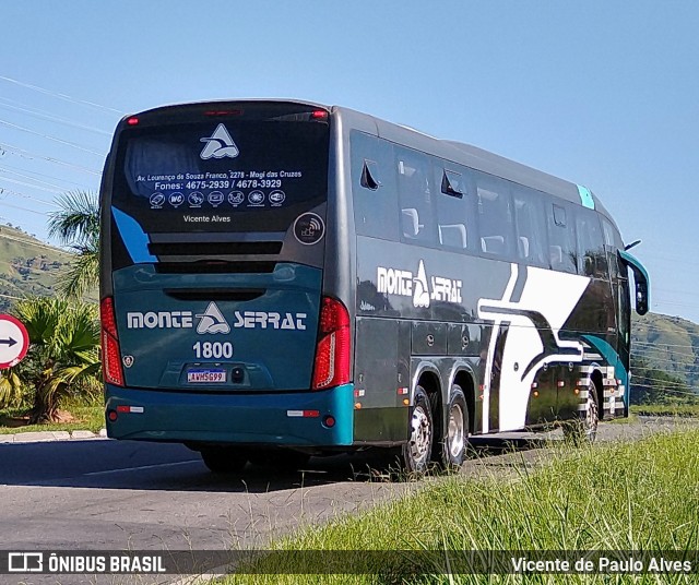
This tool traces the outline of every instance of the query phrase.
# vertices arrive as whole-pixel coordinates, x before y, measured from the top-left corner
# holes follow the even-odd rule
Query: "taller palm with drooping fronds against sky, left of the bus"
[[[99,204],[92,191],[70,191],[57,201],[61,207],[51,212],[49,236],[70,246],[76,259],[59,282],[59,291],[68,298],[82,296],[97,286],[99,278]]]

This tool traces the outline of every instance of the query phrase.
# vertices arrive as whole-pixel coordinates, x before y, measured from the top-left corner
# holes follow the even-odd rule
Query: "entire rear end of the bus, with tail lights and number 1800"
[[[171,106],[123,119],[103,179],[107,432],[352,443],[350,317],[323,296],[331,115]]]

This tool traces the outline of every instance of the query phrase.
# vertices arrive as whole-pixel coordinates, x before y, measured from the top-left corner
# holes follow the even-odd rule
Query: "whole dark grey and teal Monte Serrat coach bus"
[[[216,473],[629,409],[649,278],[587,187],[347,108],[159,107],[100,187],[108,435]],[[631,299],[631,283],[633,299]]]

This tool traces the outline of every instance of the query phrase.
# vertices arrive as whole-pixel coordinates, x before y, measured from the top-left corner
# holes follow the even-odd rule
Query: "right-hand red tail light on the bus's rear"
[[[339,300],[323,297],[320,308],[312,389],[350,382],[350,313]]]

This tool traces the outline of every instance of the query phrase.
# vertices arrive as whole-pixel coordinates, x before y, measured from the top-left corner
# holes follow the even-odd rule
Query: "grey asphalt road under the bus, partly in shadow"
[[[601,425],[600,438],[632,440],[674,425],[649,419]],[[535,464],[546,456],[536,435],[475,442],[486,456],[469,461],[464,474],[511,466],[513,456],[501,454],[506,444],[518,446],[519,462]],[[218,477],[180,445],[106,439],[0,444],[0,549],[261,547],[296,527],[415,489],[381,480],[386,473],[381,459],[365,455],[312,458],[298,473],[248,468],[241,476]],[[0,583],[16,580],[0,576]]]

